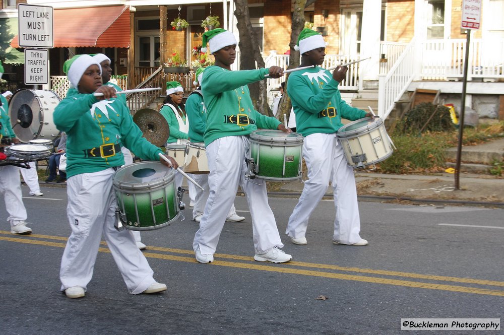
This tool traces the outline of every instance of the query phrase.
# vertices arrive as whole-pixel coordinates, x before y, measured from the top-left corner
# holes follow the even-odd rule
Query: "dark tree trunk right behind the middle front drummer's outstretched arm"
[[[256,64],[258,69],[264,68],[264,59],[259,50],[256,32],[252,29],[252,24],[250,23],[248,2],[247,0],[234,0],[234,4],[236,7],[234,15],[236,16],[236,24],[240,37],[238,43],[240,48],[240,70],[256,69]],[[256,110],[261,114],[272,116],[273,113],[267,99],[267,85],[267,80],[262,80],[249,84],[248,89],[250,90],[250,98]]]

